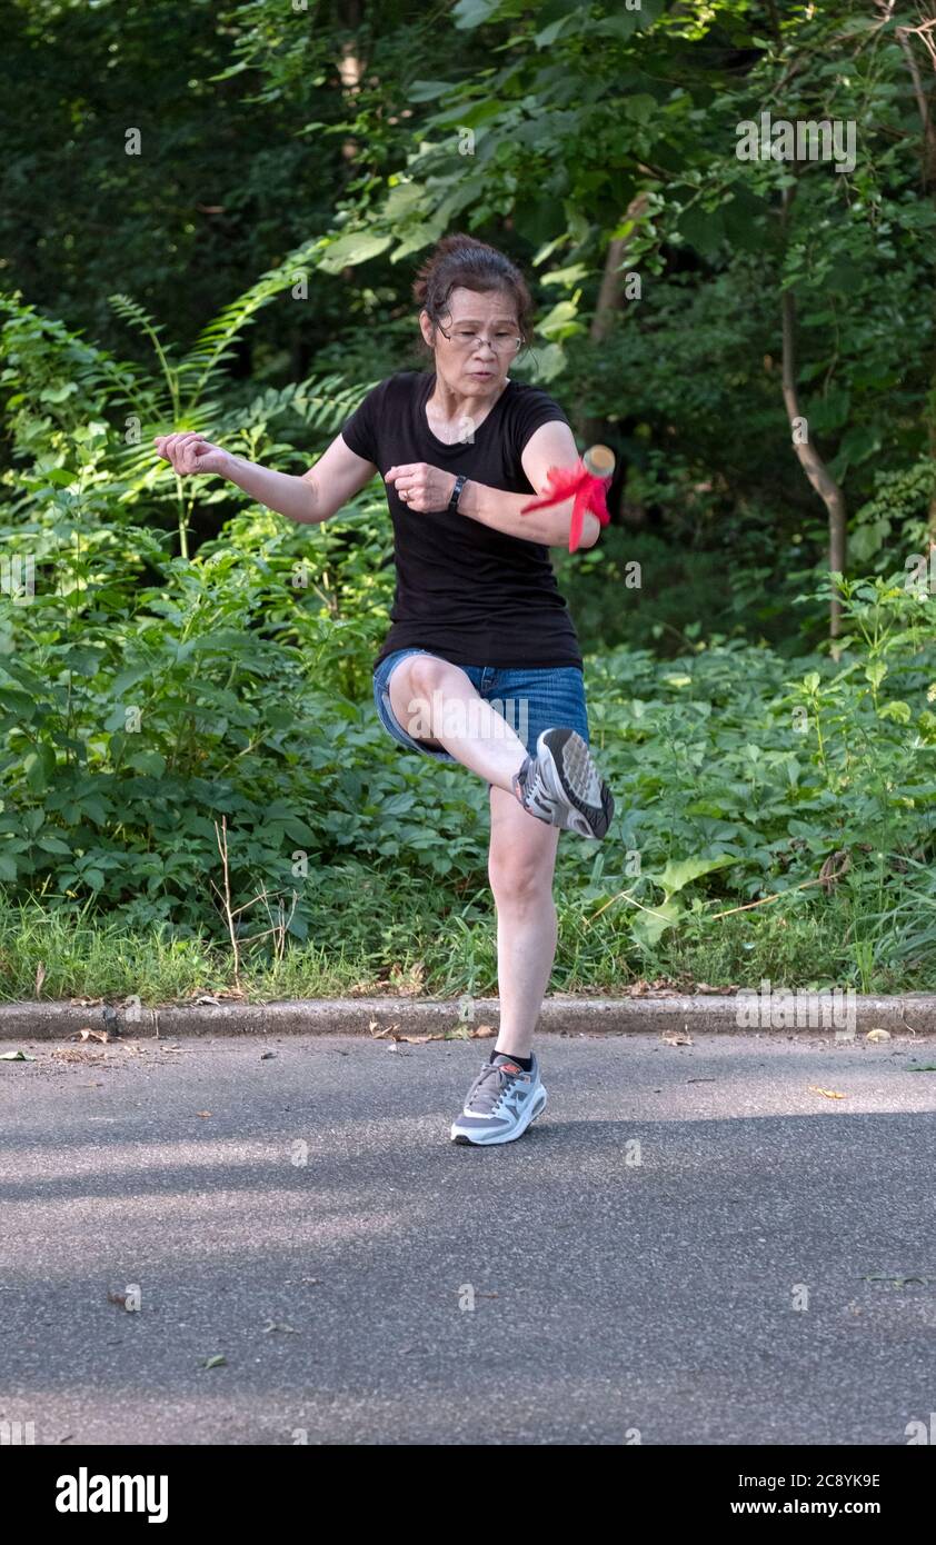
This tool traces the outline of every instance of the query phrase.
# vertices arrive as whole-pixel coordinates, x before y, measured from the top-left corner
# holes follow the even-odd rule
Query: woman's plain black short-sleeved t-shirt
[[[568,423],[558,403],[538,386],[508,382],[474,431],[474,442],[446,445],[426,419],[434,385],[434,372],[389,375],[341,430],[344,443],[382,474],[406,462],[426,462],[533,497],[521,453],[541,425]],[[548,547],[494,531],[466,514],[411,510],[391,484],[385,487],[397,592],[394,626],[375,664],[394,649],[429,649],[460,666],[582,666]]]

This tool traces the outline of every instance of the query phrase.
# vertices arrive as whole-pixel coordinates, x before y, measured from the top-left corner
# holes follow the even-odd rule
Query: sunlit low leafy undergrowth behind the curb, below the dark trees
[[[227,323],[148,380],[14,303],[6,318],[17,464],[5,474],[0,607],[8,901],[190,939],[232,927],[249,938],[266,908],[297,942],[321,942],[340,918],[380,952],[412,939],[417,896],[431,929],[470,952],[471,981],[488,980],[491,939],[471,933],[480,901],[490,905],[483,785],[402,752],[372,706],[392,587],[382,491],[335,522],[293,527],[229,485],[182,487],[148,456],[181,383],[190,419],[205,411]],[[216,405],[212,423],[222,443],[241,436],[252,459],[304,465],[312,453],[293,439],[324,443],[351,400],[326,377]],[[622,612],[619,582],[596,579],[604,565],[619,581],[629,542],[579,555],[593,637],[610,630],[607,598]],[[684,595],[704,612],[692,562]],[[789,604],[792,576],[786,586]],[[633,647],[629,624],[627,643],[592,655],[592,737],[619,816],[599,850],[559,850],[570,981],[587,969],[613,983],[677,946],[734,970],[748,908],[774,904],[837,907],[828,915],[843,919],[862,980],[870,949],[888,969],[916,969],[934,930],[934,601],[904,573],[848,582],[843,596],[840,658],[785,658],[726,637],[737,596],[707,620],[721,633],[703,637],[701,618],[683,626],[684,604],[667,623],[658,576],[649,632],[669,629],[680,654]],[[449,986],[454,958],[439,967]]]

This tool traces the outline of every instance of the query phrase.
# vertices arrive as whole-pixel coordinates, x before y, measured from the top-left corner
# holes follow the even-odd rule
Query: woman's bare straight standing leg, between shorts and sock
[[[497,908],[500,1034],[496,1051],[530,1057],[556,955],[553,870],[559,828],[491,788],[488,878]]]

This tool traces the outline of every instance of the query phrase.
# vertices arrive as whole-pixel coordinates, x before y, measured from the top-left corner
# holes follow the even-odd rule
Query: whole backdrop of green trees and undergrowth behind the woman
[[[802,975],[811,930],[846,980],[922,970],[934,603],[908,559],[936,490],[936,204],[900,22],[845,0],[377,0],[314,26],[259,0],[221,20],[204,0],[15,6],[9,896],[122,938],[165,927],[201,972],[226,938],[224,819],[232,904],[283,905],[295,956],[338,913],[355,970],[374,952],[425,958],[442,990],[490,986],[483,791],[405,756],[371,703],[383,497],[293,528],[151,451],[198,430],[304,471],[368,385],[411,363],[412,266],[468,229],[531,275],[517,377],[547,382],[582,433],[604,425],[626,464],[626,524],[559,561],[621,810],[598,854],[562,844],[562,981],[680,961]],[[39,128],[31,74],[48,82]],[[766,105],[854,122],[854,167],[738,159],[738,122]],[[114,122],[139,125],[141,156]],[[641,292],[593,329],[613,241]],[[843,584],[837,660],[814,652],[825,511],[789,443],[785,290],[811,440],[859,511],[851,565],[877,570]],[[840,878],[819,885],[826,862]],[[256,953],[270,981],[293,969]]]

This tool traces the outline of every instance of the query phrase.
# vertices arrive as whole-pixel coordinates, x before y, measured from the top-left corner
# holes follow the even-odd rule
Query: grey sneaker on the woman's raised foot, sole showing
[[[550,827],[604,837],[612,823],[612,791],[575,729],[544,729],[514,783],[524,810]]]

